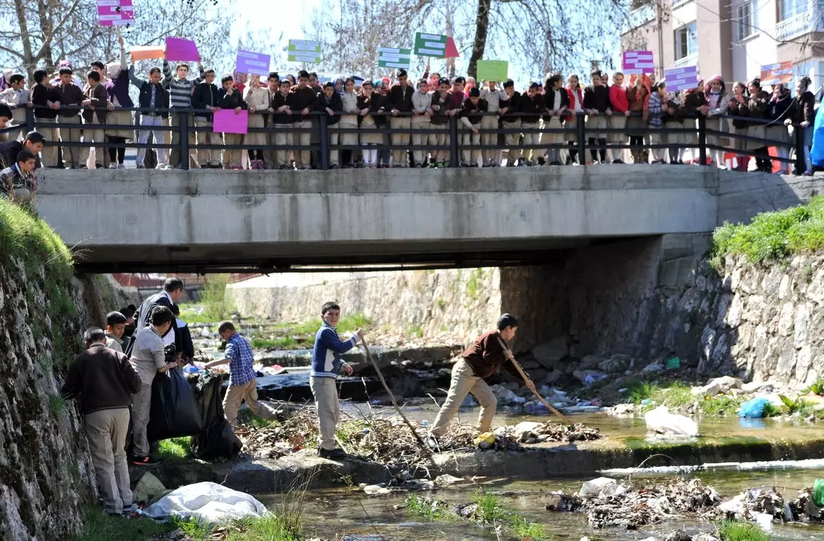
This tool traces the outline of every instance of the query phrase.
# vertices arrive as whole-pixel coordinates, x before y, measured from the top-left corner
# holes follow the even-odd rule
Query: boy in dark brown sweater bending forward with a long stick
[[[503,351],[503,344],[515,338],[517,319],[511,314],[503,314],[498,319],[498,329],[481,334],[466,351],[461,353],[461,360],[452,366],[452,383],[449,385],[447,399],[443,402],[438,417],[429,431],[427,443],[433,449],[438,449],[438,438],[446,434],[449,423],[471,393],[480,403],[478,417],[478,431],[483,433],[492,428],[492,418],[495,416],[495,407],[498,399],[484,381],[498,369],[503,368],[518,380],[520,373],[512,362],[507,362],[507,354]],[[535,384],[527,380],[527,388],[535,391]]]

